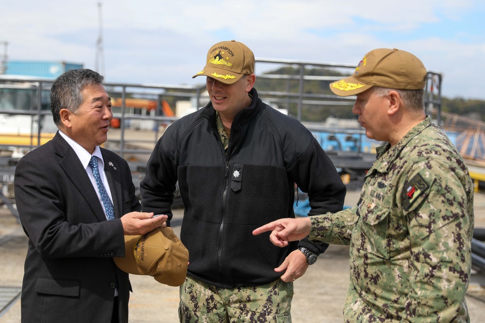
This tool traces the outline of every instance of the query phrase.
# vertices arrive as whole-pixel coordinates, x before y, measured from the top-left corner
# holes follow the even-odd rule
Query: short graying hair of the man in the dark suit
[[[54,123],[62,126],[61,109],[77,113],[84,100],[82,90],[86,86],[103,84],[104,77],[87,68],[69,70],[57,77],[50,88],[50,111]]]

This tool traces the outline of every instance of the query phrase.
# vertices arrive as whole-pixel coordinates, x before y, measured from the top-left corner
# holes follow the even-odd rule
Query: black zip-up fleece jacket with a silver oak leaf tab
[[[280,248],[257,227],[294,217],[294,184],[308,193],[309,215],[343,207],[345,185],[328,156],[298,120],[253,102],[236,115],[225,153],[209,103],[170,125],[141,182],[144,212],[171,217],[178,186],[185,207],[180,240],[189,250],[188,275],[217,287],[258,286],[276,280],[298,246],[316,254],[328,245],[308,240]]]

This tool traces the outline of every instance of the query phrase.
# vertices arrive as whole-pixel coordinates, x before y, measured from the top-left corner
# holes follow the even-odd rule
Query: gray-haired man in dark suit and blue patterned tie
[[[50,104],[59,131],[16,167],[16,205],[29,237],[25,323],[128,322],[129,277],[113,257],[125,256],[124,235],[166,226],[167,216],[139,212],[127,162],[99,147],[113,118],[102,82],[88,69],[58,77]]]

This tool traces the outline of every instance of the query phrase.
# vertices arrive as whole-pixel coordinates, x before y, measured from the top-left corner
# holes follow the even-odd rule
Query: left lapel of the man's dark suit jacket
[[[56,143],[56,154],[61,157],[59,166],[65,171],[65,174],[74,186],[77,187],[97,219],[99,221],[106,221],[106,216],[104,215],[101,202],[99,202],[99,198],[97,197],[96,190],[89,180],[86,170],[82,167],[78,155],[59,133],[56,134],[53,140]]]

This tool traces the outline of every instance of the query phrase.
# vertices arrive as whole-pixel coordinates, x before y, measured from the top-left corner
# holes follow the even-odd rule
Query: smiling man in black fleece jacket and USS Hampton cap
[[[328,245],[304,239],[280,249],[252,231],[295,216],[295,183],[308,193],[310,216],[341,210],[345,185],[312,134],[259,99],[247,46],[218,43],[206,62],[194,77],[207,77],[210,103],[158,141],[142,208],[170,220],[178,181],[190,254],[180,322],[291,322],[293,281]]]

